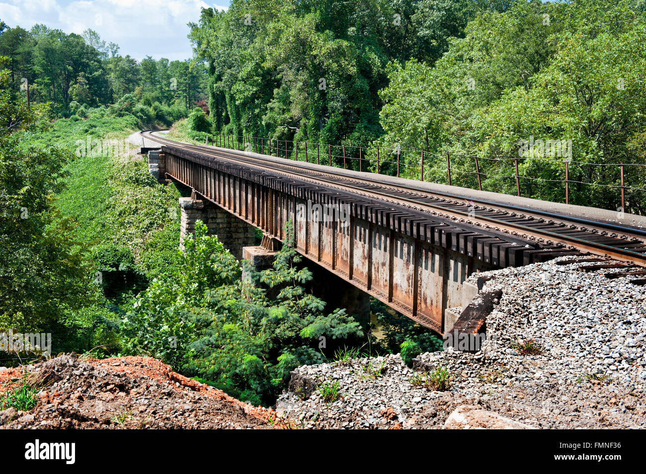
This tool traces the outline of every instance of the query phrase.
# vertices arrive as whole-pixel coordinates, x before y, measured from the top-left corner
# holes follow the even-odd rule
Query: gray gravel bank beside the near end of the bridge
[[[276,410],[305,428],[442,428],[463,404],[536,428],[643,428],[646,287],[567,259],[471,277],[490,274],[483,290],[503,290],[487,319],[490,339],[475,354],[449,348],[415,360],[417,370],[446,368],[449,390],[413,386],[413,370],[390,355],[300,367],[297,379],[338,381],[340,398],[288,392]],[[528,341],[542,353],[522,353]]]

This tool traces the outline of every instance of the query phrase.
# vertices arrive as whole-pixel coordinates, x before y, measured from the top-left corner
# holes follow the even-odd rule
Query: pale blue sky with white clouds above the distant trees
[[[0,0],[0,19],[26,30],[37,23],[66,33],[90,28],[119,44],[121,55],[172,61],[193,54],[186,24],[198,21],[207,6],[226,9],[229,0]]]

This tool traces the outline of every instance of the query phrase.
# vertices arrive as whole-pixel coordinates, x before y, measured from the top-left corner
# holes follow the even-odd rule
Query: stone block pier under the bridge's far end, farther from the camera
[[[209,235],[217,235],[220,242],[229,252],[242,259],[242,249],[255,244],[255,230],[247,222],[216,206],[210,201],[180,197],[182,222],[180,226],[180,248],[183,250],[183,239],[195,232],[195,222],[202,221],[209,228]]]

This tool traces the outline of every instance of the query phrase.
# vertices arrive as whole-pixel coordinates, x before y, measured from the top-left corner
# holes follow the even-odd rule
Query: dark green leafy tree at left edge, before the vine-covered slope
[[[43,114],[28,110],[0,70],[0,328],[21,332],[83,306],[92,292],[85,246],[52,206],[70,153],[21,143]]]

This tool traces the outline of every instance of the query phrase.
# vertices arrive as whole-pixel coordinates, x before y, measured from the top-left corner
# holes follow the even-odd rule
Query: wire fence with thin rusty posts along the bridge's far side
[[[626,208],[627,193],[632,193],[632,197],[646,198],[646,194],[636,195],[636,193],[646,193],[646,188],[641,187],[643,186],[641,183],[644,182],[643,173],[646,172],[646,164],[643,163],[589,163],[545,156],[489,155],[484,157],[477,154],[449,151],[440,155],[415,148],[401,148],[401,144],[386,148],[351,144],[333,145],[307,141],[277,140],[253,135],[207,134],[205,143],[209,144],[209,142],[215,146],[231,150],[255,152],[293,161],[326,164],[359,172],[380,173],[419,181],[432,181],[433,183],[443,181],[449,186],[459,185],[477,188],[478,190],[483,190],[483,181],[488,180],[488,182],[496,186],[495,189],[489,190],[505,192],[505,188],[507,190],[515,188],[517,196],[521,196],[523,188],[521,183],[525,181],[530,183],[529,186],[531,186],[531,183],[556,183],[559,184],[560,192],[565,192],[564,201],[566,204],[570,204],[573,187],[578,192],[582,192],[581,186],[605,188],[613,192],[620,192],[621,207],[618,210],[621,210],[621,212]],[[492,173],[490,169],[483,170],[481,166],[483,161],[487,165],[485,168],[491,168],[494,163],[498,163],[501,166],[501,173]],[[541,162],[557,164],[558,169],[549,171],[552,173],[557,172],[561,177],[536,177],[526,175],[527,170],[521,172],[523,164]],[[456,165],[459,167],[456,167]],[[513,168],[508,169],[512,165]],[[572,167],[576,169],[572,170]],[[585,174],[584,168],[587,170],[589,181],[584,181],[581,178]],[[612,169],[616,177],[610,177],[606,183],[593,182],[591,179],[594,174],[593,168]],[[638,185],[636,186],[627,184],[626,172],[629,168],[637,168],[638,172],[642,173],[640,176],[636,176],[635,172],[631,173],[632,177],[637,179]],[[575,176],[572,175],[572,171],[575,172]],[[459,183],[456,183],[455,175],[468,177],[468,179],[459,179]],[[610,184],[609,182],[613,180],[618,181],[618,183]],[[508,184],[509,181],[513,183],[511,186]],[[504,184],[502,189],[499,186],[501,183]],[[552,191],[552,194],[554,194],[555,190]],[[532,192],[526,194],[533,195]],[[639,213],[643,211],[641,206],[636,206],[636,209]]]

